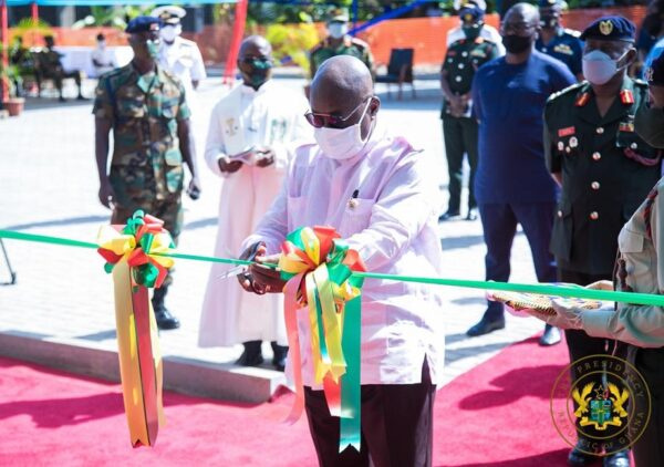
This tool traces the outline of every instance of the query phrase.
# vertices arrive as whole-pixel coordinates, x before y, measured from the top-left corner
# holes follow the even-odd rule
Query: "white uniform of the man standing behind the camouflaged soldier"
[[[203,81],[207,76],[203,56],[196,42],[178,35],[173,41],[173,44],[169,45],[162,39],[158,61],[164,70],[170,72],[181,81],[185,86],[185,96],[187,97],[191,115],[196,116],[196,94],[191,82]]]

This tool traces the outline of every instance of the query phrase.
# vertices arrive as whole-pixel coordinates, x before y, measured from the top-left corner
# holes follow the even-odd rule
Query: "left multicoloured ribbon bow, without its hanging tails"
[[[101,227],[97,245],[98,253],[107,261],[104,270],[112,272],[115,264],[126,258],[135,286],[159,288],[174,263],[172,258],[163,256],[175,248],[164,221],[141,209],[125,226]]]

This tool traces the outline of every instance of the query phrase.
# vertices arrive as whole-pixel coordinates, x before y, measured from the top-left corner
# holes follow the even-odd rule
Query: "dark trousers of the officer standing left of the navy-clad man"
[[[475,170],[477,168],[478,124],[474,118],[443,117],[443,137],[449,173],[449,204],[447,209],[458,212],[461,204],[461,180],[464,169],[464,153],[468,154],[470,179],[468,180],[468,208],[477,207],[475,200]]]

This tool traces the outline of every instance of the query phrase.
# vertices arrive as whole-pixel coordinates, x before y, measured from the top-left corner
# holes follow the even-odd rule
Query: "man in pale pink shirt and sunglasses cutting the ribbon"
[[[245,240],[242,257],[258,243],[257,261],[276,262],[272,255],[289,232],[331,226],[371,272],[439,276],[438,189],[428,175],[435,170],[406,139],[376,126],[381,102],[369,69],[352,56],[329,59],[312,82],[310,105],[307,120],[317,144],[295,151],[286,183]],[[250,292],[281,292],[286,283],[280,271],[261,266],[250,267],[240,282]],[[319,463],[369,466],[371,455],[376,467],[430,466],[432,409],[444,363],[442,292],[367,279],[361,297],[359,452],[340,454],[340,418],[330,415],[314,384],[311,321],[298,312],[304,411]]]

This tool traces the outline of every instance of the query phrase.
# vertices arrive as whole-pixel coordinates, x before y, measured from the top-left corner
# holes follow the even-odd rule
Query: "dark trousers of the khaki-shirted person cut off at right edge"
[[[636,467],[664,466],[664,347],[629,346],[627,360],[641,375],[651,393],[651,417],[643,435],[632,446]]]

